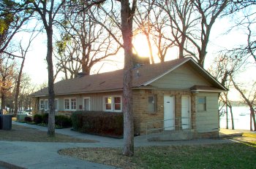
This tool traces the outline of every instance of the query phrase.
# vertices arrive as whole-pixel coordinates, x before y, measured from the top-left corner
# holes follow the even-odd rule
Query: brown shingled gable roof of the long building
[[[198,73],[208,79],[215,88],[225,91],[222,86],[211,74],[201,68],[192,58],[180,58],[170,60],[164,63],[155,63],[151,65],[140,66],[133,69],[132,87],[147,87],[152,82],[165,76],[184,63],[189,63]],[[107,91],[118,91],[123,88],[123,69],[118,71],[110,71],[102,74],[93,74],[90,76],[77,77],[75,79],[66,79],[54,84],[54,92],[56,95],[69,95],[80,93],[101,93]],[[48,95],[48,87],[37,91],[31,96]]]

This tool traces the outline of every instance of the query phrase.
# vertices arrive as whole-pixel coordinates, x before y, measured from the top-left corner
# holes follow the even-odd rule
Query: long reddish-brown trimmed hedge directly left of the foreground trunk
[[[74,130],[82,133],[121,136],[124,130],[123,113],[77,111],[71,116]]]

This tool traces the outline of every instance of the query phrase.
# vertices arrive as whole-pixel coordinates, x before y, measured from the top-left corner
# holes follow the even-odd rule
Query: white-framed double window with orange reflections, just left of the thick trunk
[[[121,111],[121,96],[107,96],[104,98],[105,111]]]

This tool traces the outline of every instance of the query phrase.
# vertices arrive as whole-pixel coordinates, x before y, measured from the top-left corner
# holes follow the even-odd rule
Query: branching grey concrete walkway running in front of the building
[[[25,123],[12,122],[14,125],[33,127],[47,131],[47,127],[27,125]],[[98,135],[88,135],[67,129],[56,129],[56,133],[70,135],[75,138],[98,141],[97,143],[50,143],[50,142],[23,142],[0,141],[0,169],[1,168],[116,168],[101,165],[72,157],[61,156],[59,149],[72,147],[122,147],[123,139],[107,138]],[[1,136],[1,135],[0,135]],[[192,141],[161,141],[148,142],[146,136],[135,137],[135,146],[170,146],[170,145],[200,145],[222,144],[229,140],[200,139]],[[15,166],[16,165],[16,166]],[[1,167],[2,166],[2,167]]]

